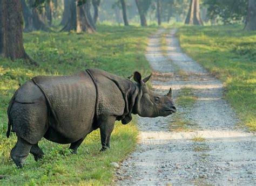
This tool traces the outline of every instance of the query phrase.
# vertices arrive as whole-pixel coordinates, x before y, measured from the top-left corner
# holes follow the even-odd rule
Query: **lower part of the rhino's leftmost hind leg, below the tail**
[[[29,155],[31,147],[31,144],[18,137],[16,145],[11,149],[11,158],[18,168],[23,167],[22,165],[25,162],[26,156]]]

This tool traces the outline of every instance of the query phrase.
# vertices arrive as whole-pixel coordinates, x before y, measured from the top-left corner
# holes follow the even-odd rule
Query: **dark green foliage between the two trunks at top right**
[[[204,5],[211,19],[219,17],[224,24],[245,20],[247,16],[248,0],[205,0]]]

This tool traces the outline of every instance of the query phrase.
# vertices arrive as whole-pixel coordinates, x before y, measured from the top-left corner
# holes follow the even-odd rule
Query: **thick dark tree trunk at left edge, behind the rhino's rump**
[[[0,0],[0,55],[4,58],[26,59],[33,65],[23,47],[21,1]]]

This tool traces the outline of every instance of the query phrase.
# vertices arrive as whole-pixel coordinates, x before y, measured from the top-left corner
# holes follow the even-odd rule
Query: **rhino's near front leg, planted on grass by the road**
[[[107,148],[110,148],[110,137],[114,129],[114,121],[116,121],[116,117],[114,116],[100,120],[99,129],[100,139],[102,141],[102,149],[100,151],[106,151]]]

